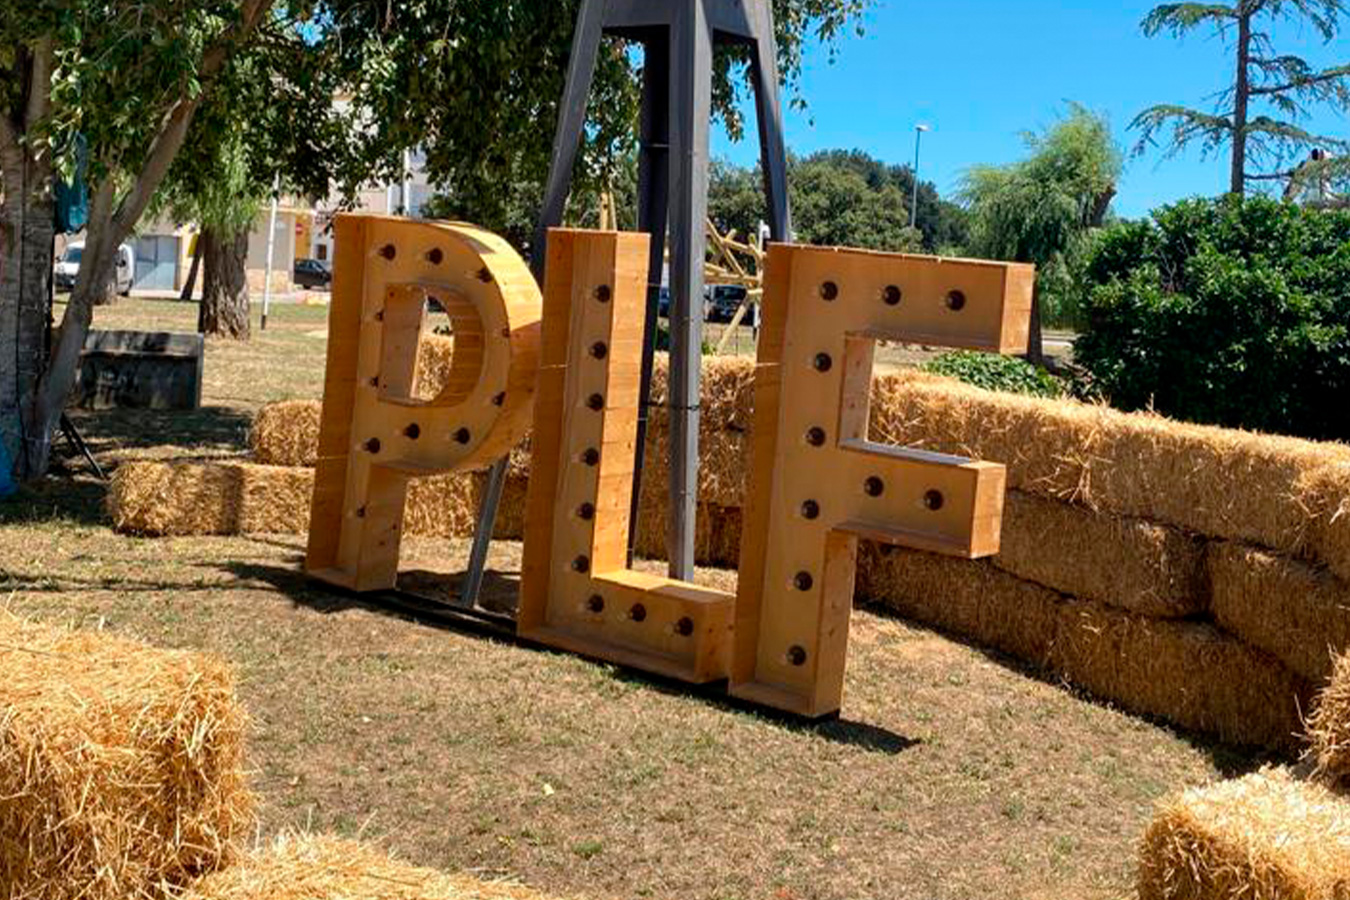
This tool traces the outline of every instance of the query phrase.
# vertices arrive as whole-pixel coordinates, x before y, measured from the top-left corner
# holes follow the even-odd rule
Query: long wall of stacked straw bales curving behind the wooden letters
[[[734,565],[738,559],[753,374],[749,359],[705,363],[695,540],[702,564]],[[659,364],[636,534],[639,553],[656,557],[664,556],[667,511],[664,395],[666,370]],[[317,402],[288,405],[275,418],[269,410],[255,430],[258,457],[312,459],[309,422],[317,416]],[[290,433],[285,422],[294,424]],[[1310,684],[1330,673],[1332,652],[1350,648],[1345,445],[995,394],[923,372],[873,379],[872,439],[1006,463],[1010,491],[999,556],[926,561],[922,555],[886,557],[864,546],[860,598],[1046,667],[1131,708],[1239,742],[1288,743],[1296,730],[1291,710],[1307,700]],[[266,482],[261,472],[252,478]],[[302,532],[306,514],[279,511],[294,506],[292,490],[305,494],[304,476],[289,478],[296,487],[277,483],[281,499],[273,515],[251,511],[247,478],[242,487],[230,487],[227,479],[223,495],[243,498],[235,503],[239,514],[197,513],[182,528],[198,528],[201,518],[224,522],[221,528],[238,519],[242,530],[285,524],[278,530]],[[466,483],[428,479],[425,509],[435,514],[409,519],[408,533],[468,534],[478,490]],[[498,537],[521,537],[526,483],[528,452],[518,449]],[[176,494],[157,490],[157,497]],[[182,491],[198,502],[209,493]],[[146,495],[146,488],[119,484],[113,509],[153,511],[154,505],[132,502]],[[410,515],[418,506],[410,499]],[[148,513],[116,518],[123,528],[148,533],[167,528]],[[941,578],[930,569],[941,569]],[[1064,610],[1091,611],[1089,621],[1110,627],[1068,627]],[[1122,641],[1130,644],[1129,653]],[[1129,661],[1145,648],[1192,654],[1189,664],[1176,661],[1174,671],[1191,684],[1215,685],[1223,696],[1208,708],[1193,691],[1149,684],[1119,663],[1111,664],[1116,675],[1102,675],[1103,660]],[[1243,668],[1249,677],[1220,690]],[[1243,729],[1243,719],[1250,727]]]

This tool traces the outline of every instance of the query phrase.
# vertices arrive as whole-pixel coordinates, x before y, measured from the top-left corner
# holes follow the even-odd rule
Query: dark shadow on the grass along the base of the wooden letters
[[[400,572],[398,586],[405,591],[401,596],[393,595],[360,595],[342,588],[328,587],[296,568],[266,565],[259,563],[215,563],[212,568],[230,572],[239,579],[265,582],[277,591],[285,594],[297,606],[315,610],[316,613],[332,614],[348,610],[364,610],[379,615],[389,615],[401,621],[414,622],[425,627],[435,627],[459,634],[487,638],[504,644],[516,644],[541,653],[562,653],[531,641],[516,638],[512,629],[504,629],[498,622],[475,621],[473,617],[463,617],[447,607],[446,600],[458,591],[462,573],[447,575],[441,572],[408,571]],[[487,610],[505,613],[514,611],[516,598],[520,592],[518,572],[487,571],[483,573],[482,604]],[[417,598],[425,598],[425,604]],[[676,679],[668,679],[639,669],[618,667],[603,660],[602,663],[617,681],[633,684],[644,690],[657,691],[671,696],[697,696],[702,702],[716,706],[726,712],[753,715],[760,721],[775,725],[783,730],[802,735],[810,735],[830,741],[833,743],[848,745],[871,753],[884,753],[896,756],[918,746],[921,741],[896,734],[867,722],[853,722],[838,716],[822,719],[803,719],[786,712],[767,710],[760,706],[737,700],[726,695],[726,683],[713,683],[690,685]]]

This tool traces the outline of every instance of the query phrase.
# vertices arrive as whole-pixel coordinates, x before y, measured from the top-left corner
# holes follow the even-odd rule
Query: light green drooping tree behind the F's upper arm
[[[1026,158],[975,166],[961,184],[971,212],[973,256],[1035,263],[1037,310],[1052,324],[1072,322],[1075,260],[1115,197],[1122,152],[1103,117],[1077,104],[1040,134],[1027,132]],[[1038,325],[1033,356],[1038,356]]]

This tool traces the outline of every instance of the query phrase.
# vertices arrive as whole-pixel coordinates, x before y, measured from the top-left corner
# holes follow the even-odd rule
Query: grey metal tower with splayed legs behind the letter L
[[[643,45],[643,111],[639,157],[639,231],[652,236],[644,328],[643,382],[632,515],[636,534],[657,305],[667,237],[671,244],[670,518],[666,544],[671,578],[693,580],[698,502],[698,422],[702,355],[703,258],[707,216],[713,49],[738,45],[749,57],[759,124],[770,232],[788,240],[787,157],[778,89],[778,47],[770,0],[582,0],[572,38],[544,206],[532,244],[543,283],[548,229],[562,224],[572,166],[586,124],[586,104],[601,40],[613,35]],[[667,233],[668,229],[668,233]],[[506,461],[489,478],[460,602],[477,604]],[[629,546],[632,556],[632,546]]]

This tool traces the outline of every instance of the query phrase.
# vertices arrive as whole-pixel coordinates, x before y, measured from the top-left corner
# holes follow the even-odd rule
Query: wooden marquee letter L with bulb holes
[[[714,681],[734,598],[626,568],[647,251],[647,235],[549,232],[518,631]]]

